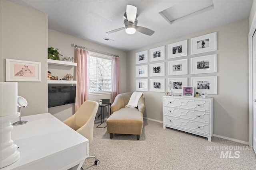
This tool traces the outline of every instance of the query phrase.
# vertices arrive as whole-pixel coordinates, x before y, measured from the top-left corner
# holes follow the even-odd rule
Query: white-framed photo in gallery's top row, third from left
[[[168,59],[188,55],[188,40],[168,44]]]

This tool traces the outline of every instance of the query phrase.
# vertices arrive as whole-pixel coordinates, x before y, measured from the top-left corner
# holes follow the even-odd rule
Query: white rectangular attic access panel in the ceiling
[[[185,0],[159,14],[170,24],[214,9],[212,0]]]

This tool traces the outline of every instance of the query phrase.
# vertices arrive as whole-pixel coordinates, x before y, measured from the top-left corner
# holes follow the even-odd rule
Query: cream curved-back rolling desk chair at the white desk
[[[87,100],[74,115],[63,121],[63,123],[86,137],[89,140],[89,147],[92,145],[94,120],[98,107],[98,102]],[[99,162],[96,156],[88,156],[87,158],[95,158],[95,165]]]

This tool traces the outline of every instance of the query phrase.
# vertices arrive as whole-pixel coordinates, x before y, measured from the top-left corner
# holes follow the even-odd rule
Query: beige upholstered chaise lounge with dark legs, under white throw
[[[131,96],[132,92],[118,94],[111,106],[112,115],[107,120],[110,139],[112,139],[113,133],[134,134],[137,135],[137,140],[140,139],[145,109],[144,97],[140,97],[137,108],[125,107]]]

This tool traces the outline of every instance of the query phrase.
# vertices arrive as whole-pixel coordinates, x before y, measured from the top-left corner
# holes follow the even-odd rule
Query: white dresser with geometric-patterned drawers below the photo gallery
[[[163,96],[163,125],[212,141],[213,98]]]

